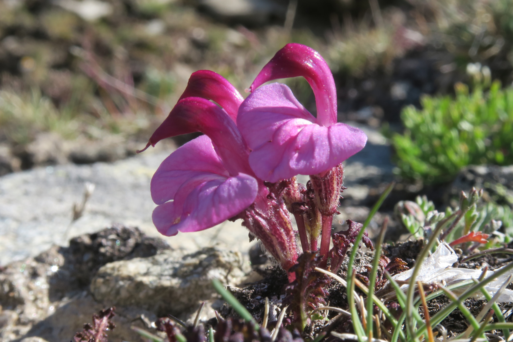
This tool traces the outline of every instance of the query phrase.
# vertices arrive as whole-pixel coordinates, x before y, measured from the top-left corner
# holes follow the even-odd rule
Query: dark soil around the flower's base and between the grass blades
[[[423,246],[423,240],[419,239],[416,241],[407,241],[396,244],[385,244],[383,245],[383,254],[392,258],[401,258],[408,264],[408,267],[415,266],[415,259],[417,255],[421,251]],[[457,253],[460,254],[460,260],[466,255],[461,255],[462,251],[457,249]],[[472,259],[469,261],[465,261],[461,263],[461,261],[457,261],[453,265],[453,267],[462,267],[469,269],[480,269],[485,266],[488,266],[490,270],[497,269],[501,266],[509,263],[513,257],[508,254],[490,254],[485,255],[476,259]],[[356,272],[360,274],[366,274],[365,266],[370,266],[372,261],[372,253],[360,250],[357,254],[356,264],[354,269]],[[264,307],[265,307],[265,297],[269,298],[270,303],[270,319],[269,326],[272,329],[275,320],[277,319],[277,313],[274,312],[275,308],[282,308],[283,301],[285,299],[285,289],[287,287],[287,276],[285,272],[278,267],[268,267],[265,270],[260,269],[260,273],[264,276],[264,279],[257,281],[256,283],[248,284],[243,288],[230,288],[231,292],[235,295],[239,301],[249,310],[249,312],[257,319],[259,323],[262,321]],[[338,272],[342,278],[346,278],[347,275],[347,258],[345,264],[342,266],[341,270]],[[322,276],[320,274],[320,276]],[[512,286],[509,285],[508,288]],[[326,304],[328,306],[338,307],[344,310],[348,310],[347,303],[347,295],[346,289],[343,287],[338,281],[332,281],[327,287],[329,295],[326,298]],[[362,294],[362,296],[364,296]],[[365,296],[364,296],[365,297]],[[435,299],[428,301],[428,310],[429,315],[433,316],[443,308],[445,308],[450,303],[450,299],[445,296],[439,296]],[[393,306],[392,303],[388,303],[388,306]],[[479,300],[474,298],[469,298],[464,301],[464,305],[470,310],[470,312],[477,316],[482,308],[486,305],[485,300]],[[506,319],[506,321],[513,321],[513,304],[511,303],[503,303],[500,305],[501,311]],[[424,316],[424,312],[422,309],[419,310],[421,316]],[[228,306],[225,305],[223,310],[221,311],[222,316],[224,317],[238,317],[238,315]],[[398,313],[400,314],[400,312]],[[304,334],[313,336],[317,334],[319,331],[326,330],[326,327],[329,323],[328,330],[337,331],[341,333],[352,333],[352,324],[349,318],[342,316],[337,318],[336,321],[333,321],[332,318],[337,316],[336,312],[329,312],[327,318],[331,319],[329,322],[327,320],[316,320],[313,321],[311,325],[306,327]],[[497,321],[497,317],[494,316],[492,321]],[[447,330],[447,336],[456,336],[463,331],[465,331],[469,323],[465,316],[459,309],[452,311],[442,322],[441,326],[443,326]],[[501,332],[492,331],[490,333],[501,334]]]

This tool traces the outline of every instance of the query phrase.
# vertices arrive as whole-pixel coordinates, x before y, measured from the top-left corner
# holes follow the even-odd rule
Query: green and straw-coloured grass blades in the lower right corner
[[[394,310],[394,312],[400,313],[399,318],[397,316],[392,316],[392,318],[388,318],[391,313],[388,308],[383,305],[382,299],[377,296],[367,296],[367,304],[368,301],[373,301],[373,305],[376,305],[378,311],[380,311],[377,316],[378,319],[371,319],[370,314],[366,312],[363,306],[351,306],[351,298],[357,298],[357,293],[354,292],[355,284],[364,292],[364,293],[373,293],[372,289],[367,289],[363,285],[359,284],[354,277],[347,278],[347,297],[349,298],[349,307],[351,308],[351,318],[354,329],[354,334],[337,334],[332,333],[336,337],[339,338],[349,338],[359,341],[372,340],[374,336],[379,336],[380,340],[393,341],[396,342],[398,340],[401,341],[429,341],[433,342],[434,336],[442,335],[443,340],[461,340],[466,341],[476,341],[476,340],[487,340],[486,332],[495,330],[501,330],[503,334],[504,340],[509,340],[509,329],[513,328],[513,323],[505,323],[504,316],[502,312],[498,308],[495,301],[497,300],[500,292],[499,290],[494,297],[491,297],[489,293],[487,293],[484,288],[486,284],[488,284],[491,280],[499,277],[502,274],[510,273],[513,269],[513,263],[509,263],[506,266],[498,269],[494,275],[485,277],[486,271],[483,272],[483,275],[479,280],[469,280],[462,281],[459,284],[448,286],[445,288],[444,286],[439,285],[439,290],[432,291],[430,294],[426,295],[424,293],[424,288],[428,287],[429,284],[422,284],[417,282],[416,276],[418,271],[420,270],[420,266],[422,265],[424,259],[428,256],[429,252],[433,247],[440,243],[439,238],[441,238],[440,234],[445,230],[442,236],[447,236],[448,232],[452,232],[452,234],[456,234],[454,227],[458,224],[458,222],[463,218],[465,223],[468,223],[469,219],[467,219],[466,215],[468,212],[471,212],[469,208],[475,207],[477,204],[480,194],[482,192],[473,190],[471,193],[462,194],[460,198],[461,207],[465,210],[459,210],[455,213],[451,214],[444,219],[438,220],[436,224],[433,224],[431,234],[429,238],[426,240],[423,249],[419,253],[417,257],[415,268],[413,269],[413,273],[409,279],[408,291],[404,293],[401,289],[401,285],[398,284],[389,274],[385,273],[387,279],[390,282],[390,285],[394,288],[394,294],[397,298],[397,304],[399,305],[400,310]],[[426,204],[425,207],[430,207]],[[475,220],[475,217],[474,217]],[[451,237],[448,237],[451,239]],[[354,242],[353,251],[351,252],[351,256],[349,259],[349,266],[353,264],[354,258],[356,257],[356,249],[358,247],[359,240]],[[486,252],[484,252],[486,253]],[[379,258],[380,255],[378,250],[376,254],[374,254],[374,258]],[[372,274],[376,274],[378,269],[378,263],[373,263]],[[351,267],[349,267],[351,270]],[[349,273],[351,273],[349,271]],[[334,278],[337,279],[336,275],[333,275]],[[339,279],[338,279],[339,280]],[[506,283],[503,285],[503,288],[509,283],[511,280],[511,276],[507,279]],[[340,281],[340,280],[339,280]],[[342,281],[344,284],[344,281]],[[455,294],[455,290],[460,289],[458,291],[459,295]],[[471,312],[463,305],[463,301],[475,294],[476,292],[481,292],[488,300],[488,305],[482,310],[482,312],[477,316],[473,316]],[[446,295],[451,299],[449,305],[447,305],[442,310],[438,311],[435,315],[430,316],[429,311],[427,310],[427,301],[435,299],[441,295]],[[353,301],[354,303],[354,301]],[[419,314],[420,306],[423,306],[424,318]],[[367,308],[371,308],[371,305],[368,305]],[[492,311],[488,312],[488,310],[492,309]],[[360,313],[358,313],[358,309]],[[470,323],[469,328],[449,339],[447,338],[447,330],[443,326],[438,326],[444,318],[446,318],[451,312],[456,309],[460,309],[462,315],[468,320]],[[375,309],[374,309],[375,310]],[[491,317],[493,314],[497,316],[499,323],[490,323]],[[388,326],[391,326],[391,329],[385,328],[384,321],[380,319],[380,317],[387,317]],[[369,327],[369,325],[371,327]],[[438,326],[438,327],[437,327]],[[366,328],[365,328],[366,327]],[[365,328],[365,329],[364,329]],[[435,331],[438,329],[438,331]],[[343,335],[343,336],[342,336]]]

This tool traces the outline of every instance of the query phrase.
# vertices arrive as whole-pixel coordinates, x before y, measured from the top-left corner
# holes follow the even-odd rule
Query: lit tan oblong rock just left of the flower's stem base
[[[103,266],[91,281],[90,290],[97,301],[109,306],[135,306],[159,316],[182,315],[215,295],[212,279],[237,284],[244,268],[238,252],[204,248],[183,255],[166,251]]]

